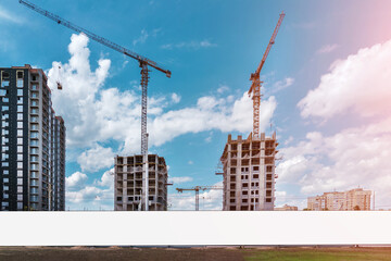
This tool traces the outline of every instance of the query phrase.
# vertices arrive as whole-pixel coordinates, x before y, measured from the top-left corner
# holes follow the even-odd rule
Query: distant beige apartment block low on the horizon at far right
[[[308,197],[307,210],[370,210],[370,190],[355,188],[348,191],[325,192],[321,196]]]

